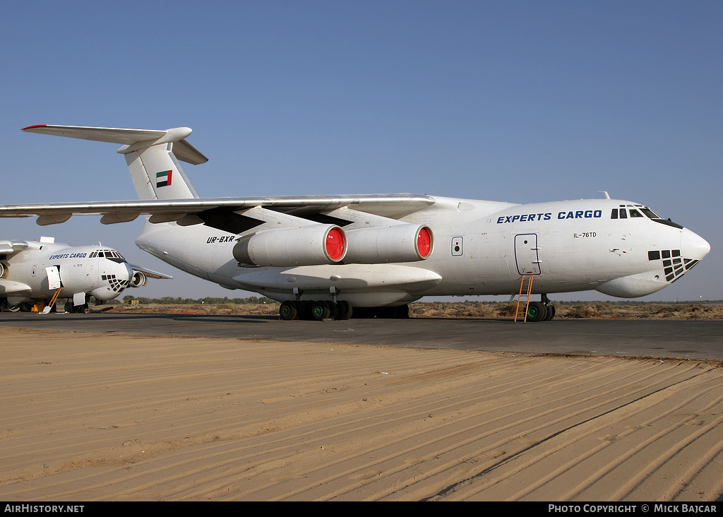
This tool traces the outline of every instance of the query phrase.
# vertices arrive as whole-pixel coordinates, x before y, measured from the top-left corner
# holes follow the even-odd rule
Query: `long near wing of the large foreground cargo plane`
[[[103,224],[133,221],[150,215],[151,223],[176,221],[181,226],[203,223],[239,234],[260,224],[244,215],[257,208],[286,213],[316,221],[338,208],[397,219],[435,203],[435,198],[416,194],[287,196],[287,197],[213,197],[180,200],[134,200],[103,202],[44,203],[36,205],[0,205],[0,217],[37,216],[40,226],[64,223],[72,215],[101,215]],[[249,212],[250,213],[250,212]]]

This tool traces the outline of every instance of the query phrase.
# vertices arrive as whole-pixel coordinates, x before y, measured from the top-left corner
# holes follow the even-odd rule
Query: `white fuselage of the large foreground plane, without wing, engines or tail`
[[[596,289],[630,298],[669,285],[709,250],[687,228],[643,209],[608,199],[513,205],[436,197],[429,208],[400,218],[432,228],[432,254],[398,264],[244,267],[232,256],[236,235],[174,223],[147,224],[137,244],[188,273],[277,300],[331,291],[357,307],[374,307],[422,296],[517,294],[522,275],[535,276],[534,293]]]

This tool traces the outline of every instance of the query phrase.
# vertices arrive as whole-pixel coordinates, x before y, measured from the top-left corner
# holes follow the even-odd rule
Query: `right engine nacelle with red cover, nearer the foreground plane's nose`
[[[358,228],[347,231],[346,240],[344,262],[351,264],[426,260],[434,247],[432,230],[421,224]]]

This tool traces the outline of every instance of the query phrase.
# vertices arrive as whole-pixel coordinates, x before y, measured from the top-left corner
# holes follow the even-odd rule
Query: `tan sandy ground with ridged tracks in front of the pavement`
[[[5,329],[0,500],[711,501],[723,368]]]

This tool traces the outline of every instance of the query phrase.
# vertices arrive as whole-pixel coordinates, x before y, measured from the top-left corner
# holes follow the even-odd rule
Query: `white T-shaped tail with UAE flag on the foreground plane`
[[[124,144],[128,170],[140,200],[198,197],[179,160],[197,165],[208,161],[185,139],[188,127],[174,129],[118,129],[113,127],[30,126],[23,131]]]

